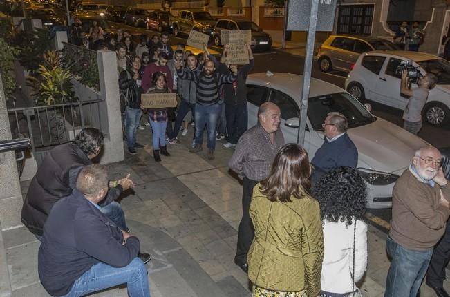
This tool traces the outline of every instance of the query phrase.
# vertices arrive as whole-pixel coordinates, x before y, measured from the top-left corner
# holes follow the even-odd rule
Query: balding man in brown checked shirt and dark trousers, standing
[[[238,244],[234,262],[248,271],[247,252],[254,238],[249,209],[254,186],[269,176],[276,153],[284,145],[279,129],[281,111],[276,104],[266,102],[258,110],[258,124],[245,131],[236,145],[228,166],[243,178],[242,209]]]

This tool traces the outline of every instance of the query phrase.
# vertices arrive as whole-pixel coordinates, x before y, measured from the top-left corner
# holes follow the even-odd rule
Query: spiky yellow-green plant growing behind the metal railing
[[[76,101],[73,74],[62,68],[61,57],[54,51],[44,54],[44,64],[39,65],[35,76],[28,77],[38,105],[52,105]]]

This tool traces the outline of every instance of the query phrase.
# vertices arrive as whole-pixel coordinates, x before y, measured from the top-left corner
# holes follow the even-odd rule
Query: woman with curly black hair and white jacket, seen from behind
[[[356,169],[336,167],[315,184],[319,201],[325,254],[321,297],[360,296],[355,283],[366,271],[366,184]]]

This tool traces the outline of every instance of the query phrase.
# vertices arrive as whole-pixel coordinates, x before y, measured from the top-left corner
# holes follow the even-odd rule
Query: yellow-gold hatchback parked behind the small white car
[[[317,52],[320,69],[328,72],[332,69],[350,72],[359,55],[371,50],[400,50],[400,48],[382,38],[330,35]]]

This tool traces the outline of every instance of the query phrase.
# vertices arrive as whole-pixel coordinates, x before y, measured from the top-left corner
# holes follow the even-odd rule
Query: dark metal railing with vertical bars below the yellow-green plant
[[[31,148],[46,148],[75,139],[85,127],[102,127],[102,100],[8,109],[12,133],[26,135]]]

